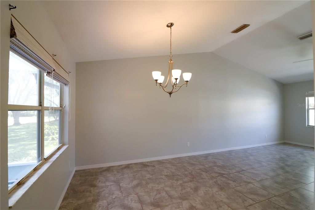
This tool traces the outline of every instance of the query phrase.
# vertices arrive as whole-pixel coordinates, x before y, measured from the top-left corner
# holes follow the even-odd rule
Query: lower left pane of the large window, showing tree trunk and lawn
[[[9,187],[29,173],[40,161],[39,111],[8,112]]]

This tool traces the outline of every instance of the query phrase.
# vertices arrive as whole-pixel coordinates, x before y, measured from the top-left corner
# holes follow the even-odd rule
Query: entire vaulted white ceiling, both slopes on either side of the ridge
[[[311,38],[304,42],[296,39],[311,30],[307,1],[42,3],[76,62],[167,55],[169,28],[166,24],[169,22],[175,23],[173,54],[214,51],[283,83],[295,81],[283,79],[288,73],[285,72],[288,65],[281,65],[285,57],[286,62],[293,62],[311,56],[308,46]],[[297,12],[293,12],[295,8]],[[250,26],[237,34],[230,33],[242,24]],[[274,57],[284,53],[284,48],[294,53],[280,56],[272,68],[269,62],[275,62]],[[310,73],[309,66],[305,65],[307,61],[296,67],[305,74]],[[294,76],[292,65],[289,67],[289,76]],[[309,77],[301,76],[298,80],[303,78]]]

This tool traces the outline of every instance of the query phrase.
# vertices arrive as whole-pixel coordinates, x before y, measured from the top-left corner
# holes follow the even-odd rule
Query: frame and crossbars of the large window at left
[[[48,155],[44,156],[44,111],[45,110],[49,110],[49,107],[44,106],[44,77],[46,77],[45,75],[45,71],[43,71],[40,67],[38,67],[35,63],[29,61],[28,59],[26,59],[23,55],[19,54],[18,52],[16,52],[15,50],[10,48],[10,51],[13,52],[15,55],[18,55],[21,59],[23,59],[24,61],[30,63],[33,66],[36,66],[39,71],[38,71],[38,106],[29,106],[29,105],[15,105],[15,104],[8,104],[8,111],[39,111],[39,114],[37,115],[38,117],[38,141],[40,143],[40,146],[37,148],[37,154],[39,156],[39,161],[37,163],[36,166],[34,166],[34,168],[27,173],[24,177],[19,178],[18,180],[16,180],[14,182],[14,184],[12,184],[9,187],[9,193],[14,190],[14,188],[19,185],[27,176],[29,176],[39,165],[43,164],[43,162],[49,158],[52,154],[54,154],[56,152],[56,150],[60,149],[60,147],[63,145],[63,129],[62,129],[62,120],[63,120],[63,108],[62,108],[62,104],[63,104],[63,90],[64,90],[64,85],[60,83],[60,106],[59,107],[51,107],[51,109],[53,108],[54,110],[61,110],[60,111],[60,117],[59,117],[59,146],[54,149],[52,152],[50,152]]]

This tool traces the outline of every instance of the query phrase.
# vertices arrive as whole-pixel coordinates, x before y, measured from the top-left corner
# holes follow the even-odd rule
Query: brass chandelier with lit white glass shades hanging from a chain
[[[161,75],[161,72],[159,72],[159,71],[152,72],[152,77],[155,80],[155,85],[159,84],[159,87],[162,88],[165,92],[167,92],[169,94],[169,97],[171,97],[172,93],[177,92],[181,88],[181,86],[186,85],[186,87],[187,87],[187,83],[190,80],[190,78],[192,77],[192,73],[183,73],[183,79],[184,79],[185,83],[183,83],[182,85],[178,85],[178,82],[180,80],[181,70],[180,69],[173,69],[173,63],[174,62],[172,61],[172,26],[174,26],[174,23],[169,23],[166,25],[166,27],[168,27],[170,29],[169,61],[168,61],[169,73],[167,75],[166,83],[164,85],[162,85],[162,83],[164,81],[164,76]],[[171,91],[165,90],[165,88],[169,84],[169,80],[172,83],[172,90]]]

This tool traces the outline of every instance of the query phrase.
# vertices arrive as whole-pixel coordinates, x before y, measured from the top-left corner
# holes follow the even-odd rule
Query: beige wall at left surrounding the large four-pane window
[[[9,11],[9,3],[16,5],[17,9]],[[62,67],[72,72],[70,74],[72,118],[69,123],[66,118],[63,121],[64,142],[69,144],[69,147],[13,207],[13,209],[55,209],[75,166],[75,63],[40,1],[1,1],[0,9],[0,209],[8,209],[7,103],[11,12],[50,54],[57,55],[54,58]],[[68,108],[65,109],[65,113],[67,112]]]

